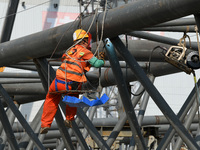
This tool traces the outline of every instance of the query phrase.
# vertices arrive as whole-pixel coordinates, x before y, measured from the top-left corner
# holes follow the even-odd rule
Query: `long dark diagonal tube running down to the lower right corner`
[[[188,131],[185,129],[182,123],[179,121],[177,116],[174,114],[172,109],[166,103],[166,101],[164,100],[162,95],[158,92],[158,90],[155,88],[155,86],[152,84],[152,82],[146,77],[146,74],[144,73],[144,71],[140,68],[135,58],[130,55],[130,53],[128,52],[126,47],[123,45],[119,37],[113,38],[111,39],[111,41],[115,45],[118,52],[125,59],[127,64],[130,66],[131,70],[134,72],[137,79],[144,86],[144,88],[152,97],[154,102],[157,104],[157,106],[160,108],[160,110],[169,120],[170,124],[173,126],[176,132],[181,136],[183,141],[187,144],[187,146],[190,149],[198,150],[199,146],[197,145],[197,143],[194,141],[194,139],[191,137],[191,135],[188,133]]]

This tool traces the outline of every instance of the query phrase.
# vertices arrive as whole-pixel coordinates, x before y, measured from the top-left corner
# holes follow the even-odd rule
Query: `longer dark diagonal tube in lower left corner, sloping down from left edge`
[[[10,109],[12,110],[12,112],[15,114],[15,116],[17,117],[17,119],[19,120],[19,122],[21,123],[21,125],[24,127],[24,129],[28,133],[29,137],[33,140],[33,142],[35,143],[35,145],[39,149],[45,150],[45,148],[43,147],[42,143],[38,140],[37,136],[35,135],[35,133],[31,129],[31,127],[29,126],[29,124],[27,123],[27,121],[24,119],[24,117],[22,116],[22,114],[20,113],[20,111],[17,109],[17,107],[15,106],[13,100],[10,98],[10,96],[8,95],[8,93],[1,86],[1,84],[0,84],[0,93],[1,93],[1,96],[3,96],[3,98],[5,99],[7,105],[10,107]]]

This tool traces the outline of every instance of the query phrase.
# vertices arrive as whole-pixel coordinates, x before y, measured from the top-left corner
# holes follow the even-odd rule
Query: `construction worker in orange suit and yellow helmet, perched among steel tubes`
[[[41,118],[41,134],[48,132],[58,109],[62,93],[56,91],[81,90],[81,85],[87,82],[84,73],[89,71],[91,66],[99,68],[104,65],[104,60],[102,60],[104,56],[98,59],[90,51],[91,39],[91,34],[82,29],[77,29],[74,32],[73,41],[76,45],[63,54],[62,64],[57,69],[56,78],[52,81],[46,95]],[[68,92],[67,95],[79,98],[79,93]],[[76,112],[76,107],[66,105],[64,123],[67,127],[72,127],[71,121],[74,120]]]

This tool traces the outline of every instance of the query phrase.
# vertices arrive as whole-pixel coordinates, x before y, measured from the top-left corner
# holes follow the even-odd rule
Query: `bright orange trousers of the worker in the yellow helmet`
[[[69,80],[68,80],[69,82]],[[71,86],[68,86],[69,89],[71,89]],[[57,82],[57,90],[61,91],[61,90],[66,90],[66,85]],[[55,92],[56,91],[56,86],[55,86],[55,79],[53,80],[53,82],[51,83],[50,87],[49,87],[49,91],[46,95],[46,100],[44,102],[44,106],[43,106],[43,113],[42,113],[42,118],[41,118],[41,127],[51,127],[51,124],[53,122],[54,116],[57,112],[58,109],[58,104],[61,100],[61,96],[62,94],[57,92],[57,93],[51,93],[51,92]],[[67,94],[70,96],[75,96],[75,97],[79,97],[78,93],[70,93]],[[74,120],[74,116],[76,115],[77,112],[77,107],[70,107],[69,105],[66,105],[66,119],[67,120]]]

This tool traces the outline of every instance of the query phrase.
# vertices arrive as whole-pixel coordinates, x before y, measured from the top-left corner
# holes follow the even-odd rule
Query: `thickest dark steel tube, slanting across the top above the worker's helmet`
[[[104,38],[115,37],[133,30],[196,14],[200,12],[199,5],[199,0],[176,0],[176,3],[174,0],[140,0],[131,2],[106,12],[103,35]],[[82,27],[85,30],[91,25],[94,16],[82,19]],[[103,16],[103,12],[95,16],[95,23],[98,23],[99,34],[101,33]],[[79,23],[79,20],[74,21],[0,44],[0,66],[52,54],[57,46],[59,51],[66,50],[73,43],[72,34],[77,29]],[[95,23],[90,29],[94,41],[97,33]],[[68,29],[67,32],[66,29]],[[60,41],[61,38],[62,40]],[[16,53],[13,52],[16,52],[18,57],[15,57]]]

